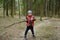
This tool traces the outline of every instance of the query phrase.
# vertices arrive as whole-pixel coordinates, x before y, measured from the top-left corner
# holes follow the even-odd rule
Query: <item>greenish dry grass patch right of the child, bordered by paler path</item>
[[[41,40],[56,40],[55,29],[53,26],[42,27],[37,31],[37,37]]]

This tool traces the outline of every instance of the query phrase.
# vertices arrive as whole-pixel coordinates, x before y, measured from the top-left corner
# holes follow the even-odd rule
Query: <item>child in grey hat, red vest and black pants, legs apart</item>
[[[27,28],[25,31],[25,38],[26,38],[29,30],[31,30],[32,36],[35,37],[35,35],[34,35],[34,21],[35,21],[35,19],[34,19],[34,16],[32,15],[31,10],[28,11],[28,15],[27,15],[26,19],[27,19],[27,22],[26,22]]]

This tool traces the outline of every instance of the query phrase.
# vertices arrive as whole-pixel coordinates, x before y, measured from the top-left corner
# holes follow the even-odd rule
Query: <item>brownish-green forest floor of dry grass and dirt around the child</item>
[[[11,17],[0,18],[0,40],[25,40],[25,23],[15,24],[6,28],[19,21],[22,21],[22,19]],[[60,19],[50,18],[43,21],[37,20],[34,30],[36,38],[33,38],[29,31],[27,40],[60,40]]]

